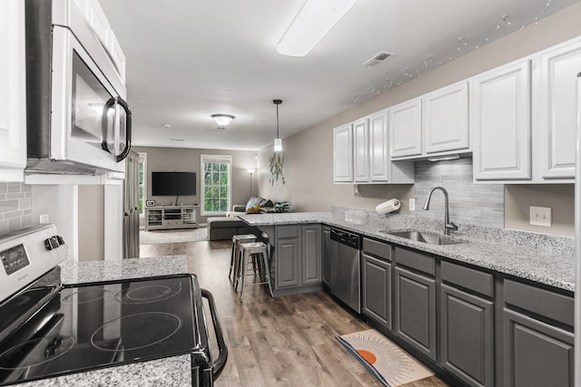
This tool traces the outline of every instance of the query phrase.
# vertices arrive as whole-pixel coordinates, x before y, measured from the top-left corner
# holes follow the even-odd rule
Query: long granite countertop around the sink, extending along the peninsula
[[[382,231],[420,230],[441,234],[443,222],[405,215],[379,216],[375,211],[333,208],[331,212],[239,215],[251,226],[322,223],[437,256],[525,278],[567,291],[575,290],[575,241],[493,227],[459,225],[455,245],[428,245]]]

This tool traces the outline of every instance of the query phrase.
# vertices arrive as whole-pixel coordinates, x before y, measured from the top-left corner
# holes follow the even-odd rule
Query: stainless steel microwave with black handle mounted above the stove
[[[126,88],[87,4],[26,0],[26,173],[124,171],[132,121]]]

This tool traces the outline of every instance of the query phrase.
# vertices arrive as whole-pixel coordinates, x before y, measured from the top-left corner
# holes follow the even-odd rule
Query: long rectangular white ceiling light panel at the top
[[[276,51],[283,55],[310,53],[357,0],[307,0],[282,36]]]

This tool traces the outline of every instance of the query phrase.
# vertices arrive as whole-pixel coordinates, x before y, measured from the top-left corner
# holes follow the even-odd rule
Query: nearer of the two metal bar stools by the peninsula
[[[240,251],[241,251],[241,263],[240,267],[238,268],[238,277],[236,278],[236,284],[241,282],[241,291],[240,291],[240,302],[244,298],[244,288],[246,285],[246,276],[248,276],[248,265],[251,263],[251,259],[257,259],[256,264],[258,266],[258,274],[260,282],[252,283],[249,285],[269,285],[269,292],[271,293],[271,297],[274,295],[272,294],[272,285],[271,285],[271,269],[269,266],[268,261],[268,247],[262,242],[241,242],[240,244]],[[252,276],[254,276],[254,270],[252,270]],[[237,286],[236,286],[237,287]]]

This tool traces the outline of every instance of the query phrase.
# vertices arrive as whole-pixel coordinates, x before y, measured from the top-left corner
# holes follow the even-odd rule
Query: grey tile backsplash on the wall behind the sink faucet
[[[433,193],[429,210],[423,209],[431,187],[448,191],[450,220],[478,226],[504,227],[504,185],[474,184],[472,158],[448,161],[416,161],[416,217],[444,219],[444,195]]]

